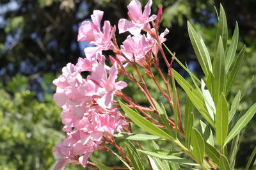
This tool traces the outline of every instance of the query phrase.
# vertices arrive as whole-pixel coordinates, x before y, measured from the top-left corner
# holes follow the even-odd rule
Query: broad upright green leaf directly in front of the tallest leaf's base
[[[214,56],[213,75],[213,100],[214,104],[217,104],[221,93],[225,93],[227,81],[225,70],[225,51],[223,49],[221,37],[220,42],[218,43],[216,55]]]

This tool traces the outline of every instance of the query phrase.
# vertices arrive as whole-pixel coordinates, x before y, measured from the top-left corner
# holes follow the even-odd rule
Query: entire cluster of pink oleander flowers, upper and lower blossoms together
[[[116,92],[127,86],[124,81],[116,82],[118,69],[124,69],[124,62],[145,66],[146,56],[151,56],[152,52],[156,56],[157,45],[165,41],[164,35],[168,33],[166,29],[158,36],[156,27],[150,26],[156,19],[156,23],[159,22],[159,15],[149,17],[151,6],[152,0],[149,0],[142,12],[140,2],[131,1],[128,5],[131,21],[120,19],[118,22],[119,33],[129,31],[131,35],[120,47],[115,41],[116,27],[109,21],[100,26],[102,11],[95,10],[92,22],[85,21],[79,27],[77,40],[95,46],[84,49],[86,58],[79,58],[76,65],[68,63],[60,77],[53,81],[57,86],[54,100],[63,109],[63,131],[67,132],[67,137],[54,147],[54,155],[61,158],[54,169],[61,169],[68,163],[85,167],[93,151],[99,149],[109,135],[127,125],[124,116],[113,107]],[[106,65],[104,50],[115,53],[115,58],[109,56],[112,66]],[[82,72],[91,73],[84,79]]]

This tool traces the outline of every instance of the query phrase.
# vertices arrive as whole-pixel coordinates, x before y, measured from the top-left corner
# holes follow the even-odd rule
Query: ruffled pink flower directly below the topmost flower
[[[134,61],[143,66],[145,62],[145,55],[153,47],[153,43],[150,42],[145,35],[128,36],[121,45],[121,51],[130,61]]]

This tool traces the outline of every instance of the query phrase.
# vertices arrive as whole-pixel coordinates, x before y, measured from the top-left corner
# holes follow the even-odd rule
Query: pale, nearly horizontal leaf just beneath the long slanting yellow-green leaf
[[[165,141],[166,140],[156,135],[133,134],[133,133],[127,133],[127,132],[119,132],[118,134],[114,134],[113,136],[122,138],[122,139],[132,140],[132,141]]]

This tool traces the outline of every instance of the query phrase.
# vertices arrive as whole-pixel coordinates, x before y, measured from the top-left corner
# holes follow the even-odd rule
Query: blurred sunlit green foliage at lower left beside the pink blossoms
[[[65,137],[61,109],[52,97],[36,100],[27,86],[28,78],[17,75],[0,88],[0,169],[47,169],[52,147]]]

